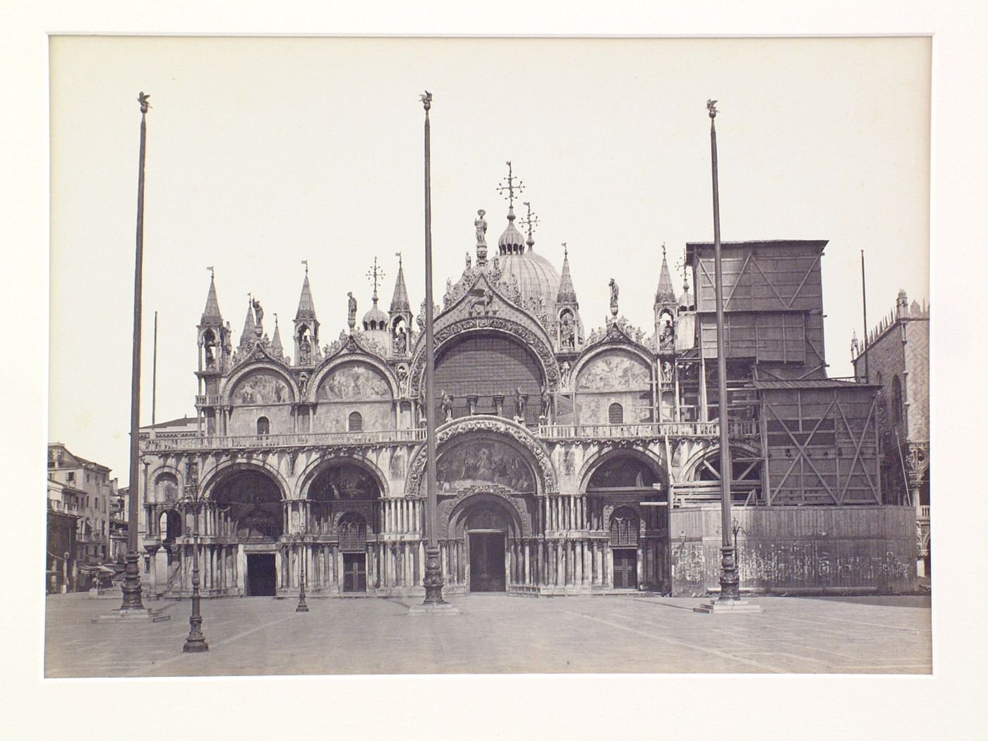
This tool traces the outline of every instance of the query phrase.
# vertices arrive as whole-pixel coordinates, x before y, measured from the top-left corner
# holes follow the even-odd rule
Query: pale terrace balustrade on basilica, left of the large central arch
[[[256,448],[297,448],[303,446],[376,445],[420,443],[425,429],[377,430],[370,432],[288,433],[287,435],[184,435],[141,441],[148,453],[198,451],[203,449],[239,450]]]

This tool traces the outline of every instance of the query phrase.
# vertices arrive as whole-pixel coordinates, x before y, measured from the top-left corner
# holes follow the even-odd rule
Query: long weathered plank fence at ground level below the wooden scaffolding
[[[776,594],[909,592],[916,586],[912,507],[736,507],[741,589]],[[670,513],[673,595],[719,591],[720,509]]]

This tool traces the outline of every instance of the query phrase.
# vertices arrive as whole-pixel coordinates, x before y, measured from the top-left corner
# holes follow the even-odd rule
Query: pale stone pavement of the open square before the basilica
[[[929,597],[761,597],[761,615],[707,616],[698,599],[471,595],[456,616],[412,600],[204,600],[208,653],[171,620],[100,624],[116,601],[47,598],[44,675],[163,677],[503,672],[929,674]]]

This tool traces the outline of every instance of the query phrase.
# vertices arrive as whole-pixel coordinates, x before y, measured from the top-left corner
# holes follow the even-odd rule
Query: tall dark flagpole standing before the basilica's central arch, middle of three
[[[433,339],[432,299],[432,191],[430,184],[429,109],[432,93],[422,95],[422,107],[426,111],[426,571],[422,583],[426,588],[423,605],[442,605],[443,572],[440,561],[439,540],[436,537],[436,391],[433,376],[436,373],[435,345]]]

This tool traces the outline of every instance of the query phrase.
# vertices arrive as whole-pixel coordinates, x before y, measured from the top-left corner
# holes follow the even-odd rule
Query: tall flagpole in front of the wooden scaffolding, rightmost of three
[[[719,602],[740,599],[734,543],[731,540],[730,432],[727,418],[727,352],[724,343],[724,287],[720,254],[720,195],[717,187],[716,101],[707,101],[710,116],[710,168],[713,175],[713,276],[717,302],[717,409],[720,422],[720,597]]]

